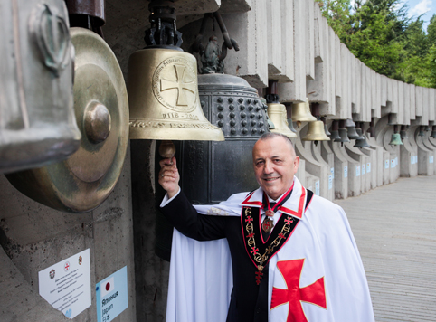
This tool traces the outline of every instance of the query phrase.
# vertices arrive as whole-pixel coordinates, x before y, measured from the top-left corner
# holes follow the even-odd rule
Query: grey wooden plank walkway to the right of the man
[[[436,321],[436,175],[336,200],[348,216],[381,321]]]

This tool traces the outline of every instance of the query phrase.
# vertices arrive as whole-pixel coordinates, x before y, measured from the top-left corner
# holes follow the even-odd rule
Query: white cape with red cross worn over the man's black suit
[[[294,177],[292,195],[283,204],[291,210],[289,214],[298,211],[302,191]],[[262,194],[260,188],[249,200],[245,200],[246,193],[233,194],[221,204],[195,208],[204,214],[240,216],[242,202],[256,206]],[[295,292],[288,293],[292,283],[284,278],[286,267],[295,273],[293,287],[299,289],[298,298]],[[312,292],[314,289],[317,291]],[[174,230],[166,322],[225,322],[231,291],[232,260],[227,241],[197,242]],[[287,299],[287,295],[292,298]],[[274,308],[270,308],[274,297]],[[326,305],[319,305],[319,298]],[[270,260],[269,308],[269,321],[273,322],[374,321],[365,270],[341,207],[313,196],[288,242]]]

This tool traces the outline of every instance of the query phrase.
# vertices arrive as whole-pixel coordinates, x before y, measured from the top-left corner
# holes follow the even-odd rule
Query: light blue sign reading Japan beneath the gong
[[[116,271],[95,286],[97,321],[109,322],[128,308],[128,267]]]

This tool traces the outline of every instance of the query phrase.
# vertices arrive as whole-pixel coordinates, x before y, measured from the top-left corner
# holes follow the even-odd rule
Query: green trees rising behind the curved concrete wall
[[[374,71],[436,88],[436,15],[427,33],[421,17],[407,17],[400,0],[316,0],[350,52]]]

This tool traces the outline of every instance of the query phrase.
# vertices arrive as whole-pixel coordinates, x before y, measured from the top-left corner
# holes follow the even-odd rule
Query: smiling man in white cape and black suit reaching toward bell
[[[227,321],[374,321],[365,271],[344,211],[299,184],[294,177],[299,157],[288,137],[263,135],[254,145],[252,157],[259,189],[233,194],[221,204],[195,208],[180,191],[175,158],[160,163],[159,184],[167,192],[161,207],[175,228],[196,241],[225,238],[228,242],[232,295]],[[177,283],[175,271],[192,260],[187,256],[201,252],[188,251],[177,258],[182,243],[178,237],[173,242],[173,285]],[[191,247],[196,246],[186,245]],[[226,246],[204,252],[208,259],[204,259],[203,270],[208,275],[216,276],[215,270],[225,272],[223,267],[206,266],[213,257],[221,256],[223,248]],[[192,270],[197,270],[194,283],[201,269]],[[189,271],[185,271],[184,281],[186,275]],[[208,279],[202,280],[209,284]],[[206,291],[204,298],[213,296],[217,288],[219,283]],[[184,290],[177,304],[173,291],[178,289],[170,286],[170,306],[175,308],[168,309],[181,309],[184,305],[180,302],[190,296]],[[191,305],[200,306],[199,300],[203,301],[200,297]],[[195,319],[195,311],[180,315],[190,322],[201,320]],[[184,320],[173,312],[170,316],[170,320]]]

